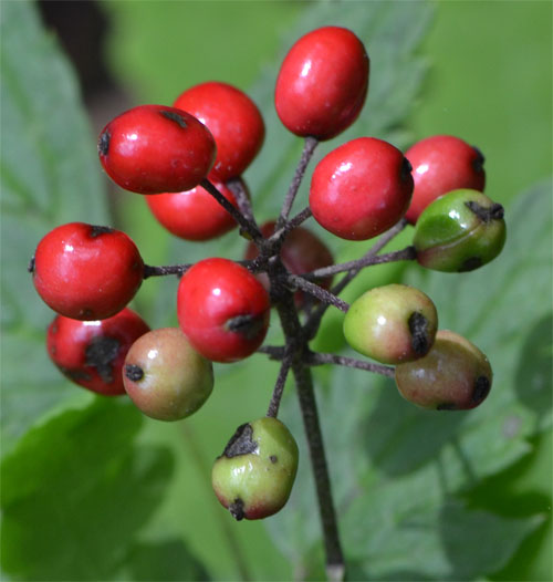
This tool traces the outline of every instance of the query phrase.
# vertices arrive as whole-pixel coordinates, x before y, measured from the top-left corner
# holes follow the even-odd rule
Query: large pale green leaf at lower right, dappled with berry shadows
[[[550,193],[551,181],[542,183],[508,208],[508,243],[481,270],[457,276],[416,266],[407,273],[407,282],[436,302],[440,328],[466,335],[488,354],[494,381],[479,408],[422,410],[405,402],[390,380],[345,368],[330,377],[317,374],[324,381],[320,412],[344,549],[371,578],[491,574],[543,523],[551,493],[541,512],[533,505],[517,515],[495,515],[491,503],[473,508],[461,499],[528,457],[529,439],[551,427],[551,304],[524,300],[529,281],[533,297],[552,295]],[[285,404],[283,414],[299,434],[298,406]],[[289,511],[269,523],[281,551],[300,567],[320,543],[317,523],[309,519],[314,491],[307,471],[303,460]]]

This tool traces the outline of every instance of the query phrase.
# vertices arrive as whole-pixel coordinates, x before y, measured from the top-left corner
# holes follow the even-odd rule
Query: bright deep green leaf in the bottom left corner
[[[97,398],[31,429],[2,463],[4,571],[24,580],[111,580],[163,500],[166,448],[134,446],[142,416]]]

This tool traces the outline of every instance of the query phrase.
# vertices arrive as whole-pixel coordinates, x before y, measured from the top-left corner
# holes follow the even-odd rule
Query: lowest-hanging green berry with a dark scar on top
[[[217,498],[237,520],[276,513],[290,497],[298,457],[294,437],[276,418],[239,426],[213,465]]]

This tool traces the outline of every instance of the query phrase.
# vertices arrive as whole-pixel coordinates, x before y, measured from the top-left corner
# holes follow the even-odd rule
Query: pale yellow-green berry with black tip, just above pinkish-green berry
[[[384,364],[422,357],[432,346],[437,329],[432,300],[418,289],[395,283],[363,293],[344,318],[347,343]]]

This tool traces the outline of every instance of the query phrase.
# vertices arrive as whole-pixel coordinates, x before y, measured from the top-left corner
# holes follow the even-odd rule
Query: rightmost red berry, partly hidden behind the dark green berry
[[[452,135],[434,135],[413,145],[405,157],[413,166],[415,189],[405,218],[413,225],[436,198],[451,190],[483,191],[484,157],[474,146]]]

